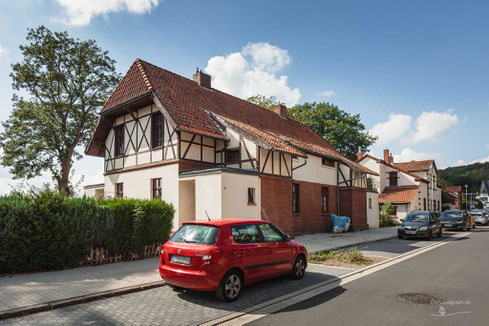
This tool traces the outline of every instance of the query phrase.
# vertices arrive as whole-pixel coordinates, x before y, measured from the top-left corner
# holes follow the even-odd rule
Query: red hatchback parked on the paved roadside
[[[216,291],[234,301],[243,285],[278,275],[301,279],[306,248],[257,220],[187,222],[161,249],[160,276],[174,289]]]

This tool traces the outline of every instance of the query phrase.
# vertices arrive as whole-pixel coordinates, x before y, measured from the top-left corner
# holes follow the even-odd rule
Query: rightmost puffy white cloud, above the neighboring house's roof
[[[458,122],[457,115],[451,114],[451,110],[423,112],[416,119],[416,131],[413,137],[410,137],[409,142],[437,141],[444,131],[452,129]]]

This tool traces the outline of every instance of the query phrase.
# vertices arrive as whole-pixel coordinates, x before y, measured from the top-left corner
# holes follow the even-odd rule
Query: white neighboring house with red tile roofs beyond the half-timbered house
[[[441,210],[441,188],[434,160],[394,163],[389,150],[384,159],[358,153],[357,163],[375,171],[372,176],[379,190],[379,204],[392,203],[398,219],[414,210]]]

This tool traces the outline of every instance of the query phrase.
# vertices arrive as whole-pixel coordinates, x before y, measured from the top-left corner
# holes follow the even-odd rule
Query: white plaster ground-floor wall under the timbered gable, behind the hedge
[[[104,193],[106,197],[114,197],[115,184],[123,183],[124,197],[151,198],[151,179],[161,178],[162,199],[173,204],[175,219],[173,228],[178,223],[178,164],[162,165],[153,168],[109,174],[104,177]]]

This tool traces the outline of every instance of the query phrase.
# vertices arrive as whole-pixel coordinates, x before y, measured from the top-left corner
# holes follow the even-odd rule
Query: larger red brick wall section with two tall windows
[[[262,218],[291,236],[332,230],[331,216],[321,210],[322,187],[328,187],[328,213],[336,213],[336,187],[261,176]],[[292,183],[299,184],[298,214],[292,213]]]

